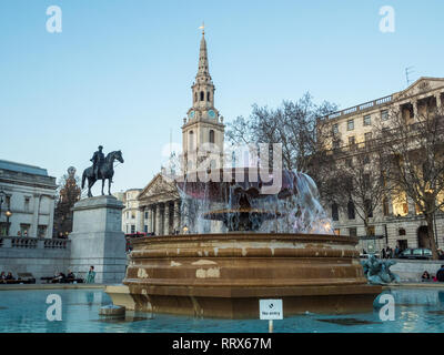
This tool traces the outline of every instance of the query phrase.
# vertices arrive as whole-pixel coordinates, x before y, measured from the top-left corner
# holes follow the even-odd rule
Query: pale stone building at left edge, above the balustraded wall
[[[0,235],[51,239],[56,190],[46,169],[0,160]]]

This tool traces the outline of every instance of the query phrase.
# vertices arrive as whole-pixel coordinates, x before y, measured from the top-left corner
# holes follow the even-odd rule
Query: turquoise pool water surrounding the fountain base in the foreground
[[[285,333],[442,333],[444,291],[395,290],[395,321],[382,322],[379,312],[347,315],[303,314],[274,321],[274,332]],[[62,300],[62,321],[47,320],[47,297]],[[105,320],[99,308],[111,304],[101,290],[1,291],[0,332],[39,333],[266,333],[268,322],[193,318],[131,313],[125,320]]]

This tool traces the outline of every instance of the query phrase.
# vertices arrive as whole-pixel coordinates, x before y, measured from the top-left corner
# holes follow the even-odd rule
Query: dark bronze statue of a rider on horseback
[[[112,176],[114,175],[114,160],[123,163],[122,152],[114,151],[104,156],[103,146],[99,145],[99,150],[94,152],[90,161],[92,162],[92,166],[85,169],[82,175],[82,189],[84,187],[84,182],[88,179],[88,197],[92,197],[91,187],[99,180],[102,181],[102,195],[104,181],[108,180],[108,193],[111,195],[111,183]]]

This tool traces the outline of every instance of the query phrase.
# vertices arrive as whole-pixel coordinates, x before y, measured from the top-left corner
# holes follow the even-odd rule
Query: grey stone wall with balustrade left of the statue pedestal
[[[2,236],[0,271],[12,272],[16,278],[18,273],[31,273],[37,283],[41,282],[40,277],[53,276],[57,272],[67,273],[70,243],[68,240]]]

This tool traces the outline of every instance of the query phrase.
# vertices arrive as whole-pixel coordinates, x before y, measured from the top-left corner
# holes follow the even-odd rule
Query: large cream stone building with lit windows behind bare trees
[[[374,144],[375,121],[390,120],[390,112],[400,112],[405,122],[412,123],[417,114],[427,109],[442,108],[444,103],[444,79],[421,78],[407,89],[389,97],[359,104],[322,119],[327,122],[336,140],[332,141],[332,151],[341,152],[346,159],[365,154]],[[367,239],[363,222],[357,215],[349,213],[347,206],[326,205],[337,234],[361,237],[363,250],[398,244],[402,248],[421,247],[427,227],[424,216],[418,214],[415,204],[406,195],[389,194],[374,211],[371,227],[375,239]],[[444,246],[444,214],[435,213],[435,240],[438,247]]]

